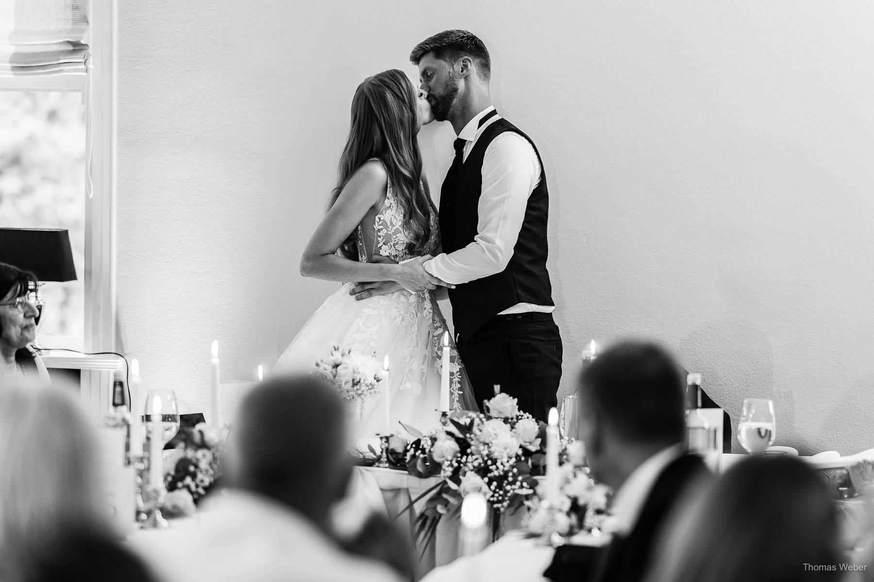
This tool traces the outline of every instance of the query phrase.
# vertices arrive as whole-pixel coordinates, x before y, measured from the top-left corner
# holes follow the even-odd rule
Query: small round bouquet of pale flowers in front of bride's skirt
[[[367,397],[379,394],[386,374],[376,358],[341,348],[332,343],[330,355],[316,362],[316,373],[334,383],[343,401],[364,401]]]

